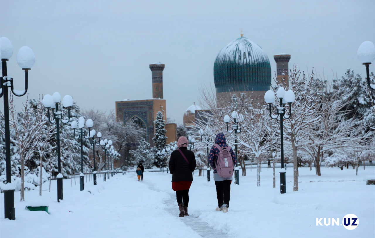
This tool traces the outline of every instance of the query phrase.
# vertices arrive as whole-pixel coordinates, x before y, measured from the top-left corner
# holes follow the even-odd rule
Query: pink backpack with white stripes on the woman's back
[[[226,149],[222,149],[219,145],[215,145],[219,149],[219,155],[216,161],[216,171],[222,178],[229,178],[233,175],[234,165],[232,156],[229,153],[231,147],[228,146]]]

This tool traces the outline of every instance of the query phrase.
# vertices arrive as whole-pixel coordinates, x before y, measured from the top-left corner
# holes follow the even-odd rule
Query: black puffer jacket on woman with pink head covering
[[[187,164],[178,150],[172,152],[169,159],[169,172],[172,174],[172,182],[193,181],[192,172],[196,167],[195,155],[185,147],[180,147],[179,149],[181,149],[189,164]]]

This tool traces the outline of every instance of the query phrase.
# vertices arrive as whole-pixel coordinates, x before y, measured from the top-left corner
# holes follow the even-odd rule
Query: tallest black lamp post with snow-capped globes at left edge
[[[15,96],[23,96],[27,92],[28,71],[34,66],[35,56],[33,51],[27,47],[21,47],[17,54],[17,63],[25,71],[25,90],[18,91],[13,89],[13,78],[7,76],[6,62],[13,55],[12,43],[6,37],[0,38],[0,58],[3,77],[0,78],[0,98],[4,96],[4,123],[5,123],[5,161],[6,161],[6,184],[4,190],[4,218],[15,220],[14,213],[14,190],[10,172],[10,128],[9,128],[9,105],[8,105],[8,87]]]

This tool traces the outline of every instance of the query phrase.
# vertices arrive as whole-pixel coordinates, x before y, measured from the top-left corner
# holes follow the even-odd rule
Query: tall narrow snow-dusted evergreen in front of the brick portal
[[[155,124],[155,135],[152,138],[154,142],[154,164],[157,167],[160,167],[164,162],[165,156],[161,154],[161,151],[166,147],[166,139],[165,136],[165,121],[163,120],[163,113],[158,111],[156,114],[156,120],[154,121]],[[159,153],[158,153],[159,152]]]

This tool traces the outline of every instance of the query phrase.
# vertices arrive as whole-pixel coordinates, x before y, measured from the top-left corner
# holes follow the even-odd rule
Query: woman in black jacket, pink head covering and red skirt
[[[196,161],[192,151],[187,149],[186,137],[177,140],[178,149],[171,153],[169,159],[169,172],[172,174],[172,189],[176,191],[177,204],[180,209],[179,217],[188,216],[189,188],[193,181],[192,172],[195,170]]]

